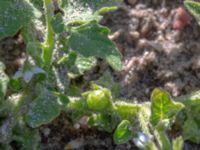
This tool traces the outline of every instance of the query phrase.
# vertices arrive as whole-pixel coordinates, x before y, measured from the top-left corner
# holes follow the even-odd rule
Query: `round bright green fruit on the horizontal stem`
[[[89,109],[102,111],[112,108],[111,93],[108,89],[94,90],[87,95],[87,105]]]

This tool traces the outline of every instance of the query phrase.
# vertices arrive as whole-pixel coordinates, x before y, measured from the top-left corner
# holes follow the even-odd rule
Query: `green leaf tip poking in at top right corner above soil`
[[[184,5],[190,11],[190,13],[196,18],[198,24],[200,25],[200,3],[186,0],[184,1]]]

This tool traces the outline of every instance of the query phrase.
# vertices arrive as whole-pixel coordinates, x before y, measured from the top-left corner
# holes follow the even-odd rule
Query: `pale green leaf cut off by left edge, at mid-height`
[[[8,76],[4,72],[5,66],[2,62],[0,62],[0,100],[4,98],[7,91],[7,85],[9,82]]]

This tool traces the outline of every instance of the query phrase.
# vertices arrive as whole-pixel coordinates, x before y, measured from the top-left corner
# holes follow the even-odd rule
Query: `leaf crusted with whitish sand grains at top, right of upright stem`
[[[122,0],[68,0],[64,6],[65,20],[67,22],[100,20],[101,16],[95,13],[97,10],[107,7],[106,11],[109,11],[109,7],[118,6],[121,2]],[[105,12],[105,9],[103,11]]]

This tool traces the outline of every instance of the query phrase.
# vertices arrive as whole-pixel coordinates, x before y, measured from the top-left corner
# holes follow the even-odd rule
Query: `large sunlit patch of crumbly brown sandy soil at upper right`
[[[121,96],[148,101],[156,87],[173,96],[200,88],[200,28],[194,19],[181,30],[172,28],[180,6],[141,1],[106,15],[103,24],[123,54],[124,70],[115,73]]]

